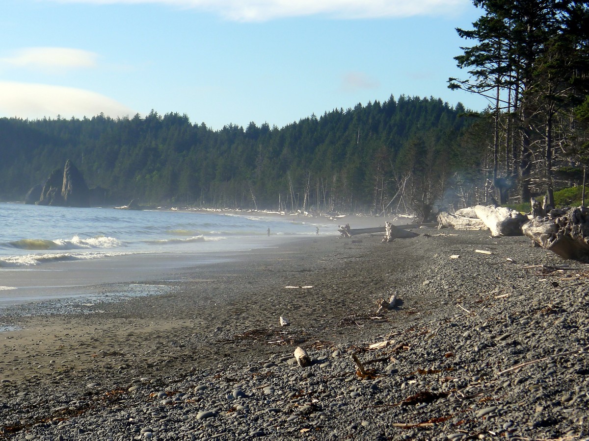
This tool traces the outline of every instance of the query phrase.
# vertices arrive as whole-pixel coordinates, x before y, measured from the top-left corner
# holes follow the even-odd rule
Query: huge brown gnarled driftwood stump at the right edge
[[[522,226],[524,235],[565,259],[589,258],[589,209],[570,209],[558,217],[537,217]]]

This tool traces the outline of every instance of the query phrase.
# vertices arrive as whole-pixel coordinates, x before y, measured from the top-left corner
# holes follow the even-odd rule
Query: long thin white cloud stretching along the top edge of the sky
[[[470,0],[46,0],[87,4],[162,4],[214,12],[234,21],[268,21],[293,16],[324,15],[359,19],[449,15]]]

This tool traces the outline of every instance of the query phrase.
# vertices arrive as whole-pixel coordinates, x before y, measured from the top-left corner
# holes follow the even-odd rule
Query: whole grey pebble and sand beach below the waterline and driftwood
[[[6,310],[0,440],[589,439],[589,266],[522,236],[413,231]]]

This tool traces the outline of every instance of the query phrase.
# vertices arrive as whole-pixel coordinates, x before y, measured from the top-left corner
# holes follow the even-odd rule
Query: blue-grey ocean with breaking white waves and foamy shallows
[[[0,203],[0,226],[0,312],[95,298],[105,284],[126,284],[128,294],[133,283],[309,238],[317,228],[319,235],[337,235],[337,222],[302,215],[19,203]],[[157,291],[146,288],[141,292]]]

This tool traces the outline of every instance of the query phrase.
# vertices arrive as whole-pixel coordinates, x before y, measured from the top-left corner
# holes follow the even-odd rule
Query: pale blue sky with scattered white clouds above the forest
[[[434,96],[471,0],[2,0],[0,116],[186,113],[213,129]]]

